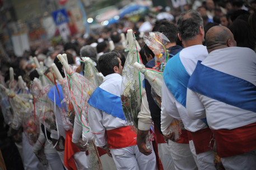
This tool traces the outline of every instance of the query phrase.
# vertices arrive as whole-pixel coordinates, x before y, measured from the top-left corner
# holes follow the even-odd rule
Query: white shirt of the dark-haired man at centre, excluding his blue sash
[[[121,75],[113,73],[107,75],[104,78],[103,83],[99,87],[115,96],[121,96],[121,84]],[[106,112],[101,111],[91,105],[89,106],[88,117],[91,132],[96,134],[95,136],[97,147],[103,147],[107,144],[106,130],[112,130],[127,126],[125,120],[107,114]]]

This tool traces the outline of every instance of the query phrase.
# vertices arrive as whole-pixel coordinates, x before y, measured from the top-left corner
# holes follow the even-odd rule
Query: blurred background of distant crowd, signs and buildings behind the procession
[[[0,64],[6,78],[13,67],[15,78],[22,75],[26,80],[35,68],[34,56],[48,67],[59,53],[71,54],[77,65],[80,56],[97,59],[113,49],[125,56],[122,33],[133,29],[143,47],[143,35],[152,31],[157,20],[176,23],[180,13],[190,9],[201,13],[204,30],[224,25],[238,46],[255,50],[256,1],[1,0],[0,7]]]

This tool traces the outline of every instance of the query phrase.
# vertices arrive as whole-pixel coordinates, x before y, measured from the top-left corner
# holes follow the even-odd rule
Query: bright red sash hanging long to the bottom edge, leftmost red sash
[[[76,152],[80,152],[80,149],[78,149],[77,146],[72,143],[72,131],[66,131],[64,166],[68,168],[68,170],[77,170],[76,163],[73,158],[73,155]]]

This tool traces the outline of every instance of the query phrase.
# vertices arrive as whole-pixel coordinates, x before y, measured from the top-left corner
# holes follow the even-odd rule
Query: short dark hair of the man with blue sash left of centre
[[[118,54],[115,52],[105,53],[99,58],[99,67],[101,73],[106,76],[109,74],[113,74],[114,67],[117,66],[119,68],[119,60]]]

